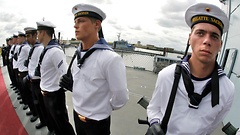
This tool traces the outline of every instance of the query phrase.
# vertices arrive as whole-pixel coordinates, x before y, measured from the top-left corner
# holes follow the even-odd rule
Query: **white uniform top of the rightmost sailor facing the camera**
[[[162,69],[157,78],[156,87],[147,107],[150,123],[163,119],[172,90],[176,64]],[[193,80],[194,92],[201,94],[210,80]],[[222,76],[219,79],[219,104],[212,107],[211,92],[199,104],[198,109],[189,108],[188,93],[182,76],[169,119],[167,135],[206,135],[212,133],[229,112],[234,97],[234,84]]]

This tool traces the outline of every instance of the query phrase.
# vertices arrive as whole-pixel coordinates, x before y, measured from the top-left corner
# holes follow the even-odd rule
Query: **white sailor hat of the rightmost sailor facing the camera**
[[[185,13],[185,21],[189,27],[197,23],[210,23],[215,25],[221,34],[229,27],[227,15],[217,6],[207,3],[197,3],[190,6]]]

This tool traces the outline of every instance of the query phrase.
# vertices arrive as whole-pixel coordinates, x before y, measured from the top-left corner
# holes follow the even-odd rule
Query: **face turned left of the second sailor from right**
[[[78,17],[74,20],[75,36],[84,40],[96,34],[96,23],[88,17]]]

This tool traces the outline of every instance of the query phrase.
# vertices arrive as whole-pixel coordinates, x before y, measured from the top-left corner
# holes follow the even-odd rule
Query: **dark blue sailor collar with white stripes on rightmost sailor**
[[[191,55],[187,55],[186,57],[183,58],[182,62],[181,62],[181,66],[182,68],[187,71],[187,73],[189,75],[191,75],[191,72],[190,72],[190,66],[189,66],[189,63],[188,63],[188,60],[191,58]],[[222,68],[218,65],[218,63],[216,62],[217,64],[217,68],[218,68],[218,76],[219,78],[222,77],[222,76],[225,76],[226,74],[224,73],[224,71],[222,70]]]

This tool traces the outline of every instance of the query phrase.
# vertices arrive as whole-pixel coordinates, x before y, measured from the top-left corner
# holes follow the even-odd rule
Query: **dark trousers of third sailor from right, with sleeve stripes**
[[[56,135],[75,135],[68,119],[64,90],[45,92],[43,101]]]

